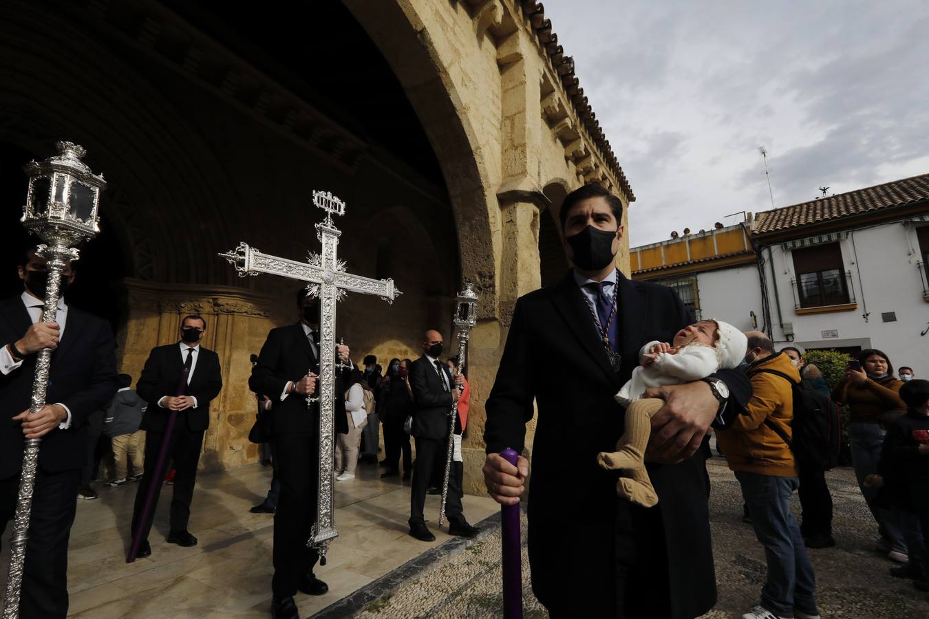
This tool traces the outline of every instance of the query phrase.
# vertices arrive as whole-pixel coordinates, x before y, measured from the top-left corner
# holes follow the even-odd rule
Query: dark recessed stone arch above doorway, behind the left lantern
[[[3,69],[17,75],[0,93],[3,136],[40,153],[59,139],[87,148],[108,179],[101,209],[122,227],[135,277],[231,282],[215,248],[177,234],[177,213],[219,227],[220,237],[242,226],[239,209],[226,208],[235,202],[214,153],[174,104],[63,13],[10,2],[0,17],[0,61],[16,62]],[[54,49],[42,43],[46,32],[57,33]]]

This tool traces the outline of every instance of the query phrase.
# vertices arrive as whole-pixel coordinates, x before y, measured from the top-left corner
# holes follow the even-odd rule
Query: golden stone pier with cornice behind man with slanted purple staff
[[[161,284],[124,279],[125,322],[117,333],[119,371],[138,380],[150,350],[177,342],[180,321],[197,314],[206,320],[201,344],[219,355],[223,390],[210,405],[210,427],[203,439],[201,469],[235,469],[257,461],[257,445],[248,442],[255,421],[255,396],[248,389],[249,355],[257,354],[268,330],[272,299],[229,286]]]

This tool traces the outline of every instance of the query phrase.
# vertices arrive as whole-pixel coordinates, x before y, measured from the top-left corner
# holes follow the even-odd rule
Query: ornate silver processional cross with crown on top
[[[307,398],[320,404],[320,471],[317,519],[307,545],[320,553],[325,565],[329,543],[338,536],[334,524],[333,446],[335,441],[335,303],[347,291],[373,294],[393,303],[400,291],[393,279],[371,279],[346,273],[346,262],[336,256],[342,233],[333,222],[333,215],[346,212],[345,202],[329,191],[313,191],[313,204],[326,212],[326,218],[316,225],[316,237],[322,243],[321,253],[310,252],[305,263],[261,253],[254,247],[239,243],[233,251],[220,253],[239,272],[239,277],[270,273],[308,282],[310,296],[320,299],[320,389],[318,398]]]

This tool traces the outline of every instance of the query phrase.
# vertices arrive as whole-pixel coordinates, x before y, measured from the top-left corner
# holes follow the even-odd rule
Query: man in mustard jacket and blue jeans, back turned
[[[800,372],[788,355],[775,354],[764,333],[749,331],[745,335],[752,399],[745,414],[716,434],[729,468],[739,480],[767,561],[761,603],[742,619],[818,619],[816,577],[791,512],[791,495],[798,485],[791,439],[794,388],[800,382]]]

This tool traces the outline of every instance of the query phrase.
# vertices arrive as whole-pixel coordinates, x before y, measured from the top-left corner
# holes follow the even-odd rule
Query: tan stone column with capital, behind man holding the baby
[[[496,317],[478,321],[471,335],[468,378],[471,406],[464,441],[464,491],[486,492],[481,467],[484,465],[484,403],[493,387],[500,357],[504,352],[513,308],[517,299],[542,285],[539,263],[539,218],[548,200],[541,191],[506,190],[497,194],[501,210],[502,252],[499,267],[499,302]],[[526,455],[531,452],[535,420],[526,428]]]

